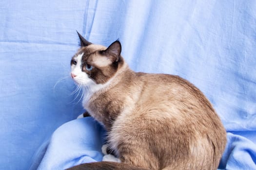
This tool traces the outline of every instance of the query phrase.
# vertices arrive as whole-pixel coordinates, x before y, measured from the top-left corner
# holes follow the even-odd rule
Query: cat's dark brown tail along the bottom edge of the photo
[[[118,162],[93,162],[81,164],[67,170],[147,170]]]

